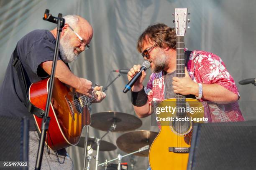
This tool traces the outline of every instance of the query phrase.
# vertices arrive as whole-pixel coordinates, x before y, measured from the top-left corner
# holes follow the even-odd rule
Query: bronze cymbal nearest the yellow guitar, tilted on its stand
[[[126,153],[132,153],[139,150],[139,148],[142,148],[143,146],[149,145],[150,147],[157,134],[157,132],[148,130],[136,130],[128,132],[118,137],[116,140],[116,145],[118,145],[120,150],[123,150]],[[140,153],[135,153],[134,155],[147,157],[148,153],[149,149]]]

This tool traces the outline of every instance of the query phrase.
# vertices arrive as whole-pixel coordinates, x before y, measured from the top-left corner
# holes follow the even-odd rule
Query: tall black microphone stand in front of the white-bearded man
[[[52,89],[53,89],[53,84],[54,84],[54,75],[55,75],[55,68],[56,68],[56,62],[57,62],[57,56],[59,55],[59,39],[60,39],[60,33],[62,31],[62,28],[64,27],[65,24],[65,19],[62,18],[62,14],[59,13],[58,18],[53,17],[51,14],[49,14],[49,10],[45,10],[44,13],[44,18],[43,20],[47,20],[52,23],[56,23],[57,26],[57,37],[56,37],[56,44],[55,44],[55,49],[54,49],[54,59],[52,63],[52,68],[51,68],[51,77],[49,81],[49,92],[47,96],[47,102],[46,102],[46,108],[45,108],[45,114],[42,120],[42,126],[41,126],[41,135],[40,135],[40,141],[39,141],[39,147],[38,147],[38,153],[36,157],[36,167],[35,170],[40,170],[41,169],[41,163],[42,163],[42,158],[43,158],[43,153],[44,153],[44,141],[46,137],[46,132],[49,127],[50,123],[50,117],[49,117],[49,106],[51,102],[51,95],[52,95]]]

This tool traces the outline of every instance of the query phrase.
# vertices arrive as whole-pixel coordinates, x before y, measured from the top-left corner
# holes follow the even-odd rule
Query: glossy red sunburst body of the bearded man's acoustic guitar
[[[49,78],[33,83],[29,88],[29,100],[36,107],[45,110],[48,95]],[[54,79],[54,88],[51,97],[49,130],[46,135],[46,145],[56,151],[76,145],[79,142],[82,129],[90,125],[91,117],[87,105],[73,102],[80,94],[72,92],[69,87]],[[76,104],[76,105],[74,105]],[[42,118],[34,115],[36,126],[41,133]]]

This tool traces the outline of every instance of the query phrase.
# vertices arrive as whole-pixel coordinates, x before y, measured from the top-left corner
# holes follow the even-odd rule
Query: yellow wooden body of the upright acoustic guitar
[[[202,107],[201,102],[196,99],[186,99],[190,107]],[[158,107],[177,107],[176,99],[163,100]],[[188,117],[203,117],[203,112],[187,113]],[[170,112],[161,112],[159,118],[175,117]],[[172,121],[159,121],[161,130],[149,150],[149,164],[152,170],[186,170],[189,153],[190,140],[192,134],[192,122],[175,125]],[[176,130],[174,130],[176,129]],[[177,133],[180,132],[180,133]],[[171,147],[171,148],[170,148]],[[172,150],[173,149],[173,150]],[[174,151],[176,150],[176,151]],[[182,153],[183,152],[183,153]]]

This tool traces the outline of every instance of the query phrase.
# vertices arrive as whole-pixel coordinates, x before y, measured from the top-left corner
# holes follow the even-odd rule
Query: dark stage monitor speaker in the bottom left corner
[[[0,116],[0,161],[28,162],[28,118]]]

